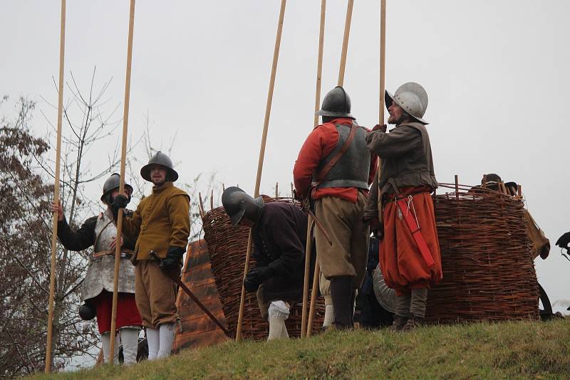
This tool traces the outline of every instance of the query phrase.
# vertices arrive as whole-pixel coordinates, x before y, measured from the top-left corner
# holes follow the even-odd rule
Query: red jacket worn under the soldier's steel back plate
[[[313,181],[313,173],[318,167],[321,159],[326,158],[338,144],[338,131],[336,125],[351,125],[352,120],[348,117],[339,117],[338,119],[318,125],[309,137],[305,140],[299,157],[295,162],[293,169],[293,179],[297,194],[306,197],[311,189]],[[371,154],[370,174],[368,175],[368,185],[372,184],[374,176],[378,169],[378,156]],[[336,196],[346,201],[356,203],[358,191],[366,191],[357,189],[356,187],[329,187],[325,189],[312,189],[311,197],[313,199],[323,198],[324,196]],[[366,191],[368,194],[368,191]]]

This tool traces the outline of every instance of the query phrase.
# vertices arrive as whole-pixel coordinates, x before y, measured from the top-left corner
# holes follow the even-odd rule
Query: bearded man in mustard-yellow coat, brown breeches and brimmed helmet
[[[135,300],[147,329],[148,359],[152,360],[169,356],[174,342],[176,284],[162,270],[180,274],[190,236],[190,196],[172,184],[178,174],[162,152],[150,158],[140,175],[154,185],[152,194],[140,201],[132,216],[123,217],[123,235],[138,235],[131,259],[135,265]],[[126,201],[124,196],[115,197],[115,219]],[[150,251],[162,258],[162,269]]]

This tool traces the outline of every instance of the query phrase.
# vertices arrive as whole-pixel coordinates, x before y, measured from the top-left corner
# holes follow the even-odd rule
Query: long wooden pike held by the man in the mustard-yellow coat
[[[123,145],[120,154],[120,184],[119,193],[125,192],[125,161],[127,157],[127,136],[129,124],[129,102],[130,102],[130,68],[133,61],[133,31],[135,27],[135,0],[130,0],[129,14],[129,37],[127,46],[127,73],[125,75],[125,107],[123,108]],[[111,328],[110,328],[110,347],[109,357],[110,363],[115,360],[115,329],[117,322],[117,300],[119,288],[119,264],[120,264],[120,236],[123,231],[123,209],[119,209],[117,217],[117,244],[115,244],[115,274],[113,277],[113,309],[111,310]]]

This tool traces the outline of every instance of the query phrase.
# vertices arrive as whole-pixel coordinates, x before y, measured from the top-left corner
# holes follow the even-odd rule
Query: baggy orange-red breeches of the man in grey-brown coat
[[[412,289],[430,287],[443,278],[432,197],[427,191],[415,194],[421,190],[414,187],[404,188],[402,191],[401,196],[413,194],[413,206],[420,231],[435,265],[430,268],[425,263],[405,218],[400,218],[398,205],[394,201],[388,201],[384,207],[380,268],[386,285],[395,289],[397,295],[406,294]]]

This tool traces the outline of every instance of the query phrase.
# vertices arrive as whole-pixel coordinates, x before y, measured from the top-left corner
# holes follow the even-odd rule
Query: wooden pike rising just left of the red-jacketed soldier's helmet
[[[326,20],[326,0],[321,0],[321,28],[318,32],[318,58],[316,65],[316,89],[315,89],[315,112],[321,107],[321,76],[323,73],[323,46],[325,41],[325,20]],[[346,63],[346,57],[344,59]],[[342,65],[342,64],[341,64]],[[313,127],[318,126],[318,115],[314,115]],[[307,241],[305,246],[305,278],[303,284],[303,304],[301,312],[301,337],[309,337],[311,335],[311,329],[313,326],[313,314],[311,310],[314,309],[314,300],[316,296],[314,295],[315,281],[313,280],[313,291],[311,292],[311,304],[309,307],[309,315],[307,315],[307,302],[309,302],[309,272],[311,270],[311,248],[312,248],[312,236],[311,236],[311,226],[313,223],[313,218],[309,215],[307,218]],[[318,271],[318,263],[315,263],[315,273]],[[307,325],[307,319],[309,318],[309,325]]]

